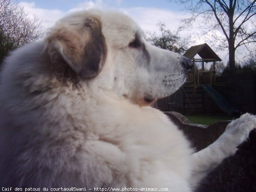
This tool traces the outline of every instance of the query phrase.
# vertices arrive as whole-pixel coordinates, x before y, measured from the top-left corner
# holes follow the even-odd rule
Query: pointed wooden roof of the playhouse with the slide
[[[190,47],[183,56],[193,59],[196,54],[206,62],[221,61],[221,58],[206,43]]]

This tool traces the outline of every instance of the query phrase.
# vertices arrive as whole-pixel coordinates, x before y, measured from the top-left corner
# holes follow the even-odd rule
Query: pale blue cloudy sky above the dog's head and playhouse
[[[54,25],[61,17],[83,9],[115,10],[125,13],[134,19],[144,31],[156,32],[156,24],[163,22],[168,29],[175,31],[180,25],[180,20],[188,18],[189,13],[182,11],[183,5],[177,5],[174,0],[20,0],[21,6],[30,14],[36,14],[42,20],[44,30]],[[200,20],[195,22],[200,23]],[[180,33],[182,38],[191,36],[195,38],[192,45],[203,44],[204,38],[198,38],[200,29],[194,27],[189,31]],[[211,45],[210,42],[206,42]],[[189,45],[189,46],[192,46]],[[221,57],[224,63],[227,62],[227,51],[212,49]],[[237,56],[241,57],[241,54]]]

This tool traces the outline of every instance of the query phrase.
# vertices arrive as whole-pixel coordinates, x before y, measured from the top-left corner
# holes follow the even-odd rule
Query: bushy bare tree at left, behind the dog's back
[[[31,17],[16,0],[0,0],[0,63],[10,50],[43,35],[38,17]]]

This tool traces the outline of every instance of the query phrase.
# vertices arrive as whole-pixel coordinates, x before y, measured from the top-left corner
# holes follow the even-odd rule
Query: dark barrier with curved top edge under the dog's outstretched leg
[[[228,121],[209,127],[189,124],[179,113],[166,113],[184,132],[196,151],[213,143],[225,130]],[[256,192],[256,131],[241,144],[233,157],[225,159],[201,182],[196,192]]]

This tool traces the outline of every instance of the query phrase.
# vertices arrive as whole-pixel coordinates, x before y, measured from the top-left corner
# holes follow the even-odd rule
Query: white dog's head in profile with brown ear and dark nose
[[[61,19],[46,38],[54,62],[59,56],[81,81],[139,105],[174,93],[192,62],[145,41],[143,31],[121,13],[86,11]]]

